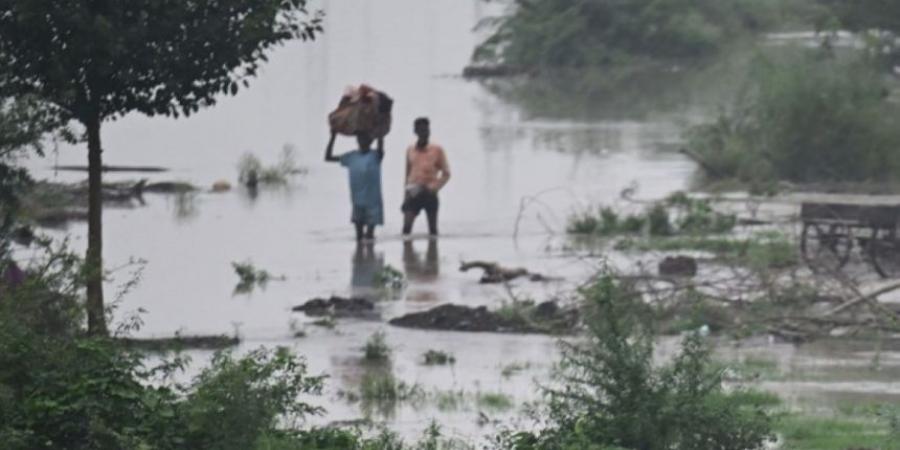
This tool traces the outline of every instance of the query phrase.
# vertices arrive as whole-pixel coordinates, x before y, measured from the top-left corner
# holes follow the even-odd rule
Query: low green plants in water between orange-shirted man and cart
[[[698,235],[725,233],[731,231],[735,223],[733,214],[714,210],[711,199],[691,198],[684,192],[676,192],[638,214],[621,216],[609,207],[600,208],[597,213],[575,214],[569,218],[567,231],[571,234],[598,236]]]

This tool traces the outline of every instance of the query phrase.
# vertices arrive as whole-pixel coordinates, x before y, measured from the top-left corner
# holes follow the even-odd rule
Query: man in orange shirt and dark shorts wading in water
[[[406,150],[406,192],[403,200],[403,234],[412,231],[422,210],[428,219],[428,233],[437,236],[438,192],[450,179],[450,166],[444,149],[429,141],[431,126],[427,118],[413,123],[416,143]]]

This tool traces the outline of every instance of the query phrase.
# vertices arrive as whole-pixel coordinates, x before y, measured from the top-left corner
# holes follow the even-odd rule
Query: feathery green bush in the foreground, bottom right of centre
[[[581,294],[587,335],[562,344],[559,387],[545,391],[548,425],[506,434],[506,448],[747,450],[770,439],[764,407],[724,390],[701,337],[656,364],[645,307],[629,289],[603,276]]]

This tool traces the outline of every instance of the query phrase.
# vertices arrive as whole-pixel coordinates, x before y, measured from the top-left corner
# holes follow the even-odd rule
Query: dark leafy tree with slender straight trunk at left
[[[265,53],[314,39],[306,0],[0,0],[0,97],[33,95],[88,144],[88,329],[105,334],[101,124],[188,116],[248,86]]]

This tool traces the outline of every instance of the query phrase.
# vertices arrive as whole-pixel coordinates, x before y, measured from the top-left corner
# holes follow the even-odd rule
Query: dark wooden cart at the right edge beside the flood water
[[[882,277],[900,276],[900,205],[803,203],[800,248],[809,267],[840,270],[854,247]]]

